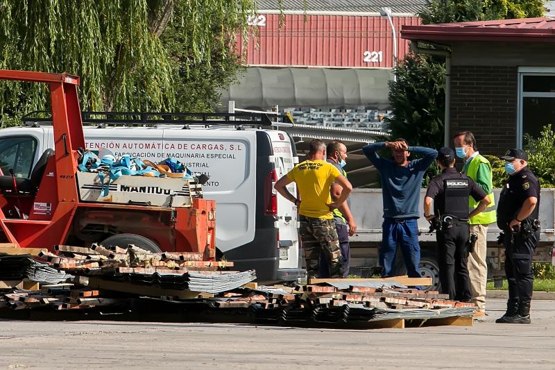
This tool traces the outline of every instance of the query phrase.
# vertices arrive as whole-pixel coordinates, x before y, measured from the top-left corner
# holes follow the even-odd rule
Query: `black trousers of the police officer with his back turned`
[[[471,297],[467,266],[469,236],[467,223],[457,223],[436,233],[441,293],[462,302],[470,301]]]

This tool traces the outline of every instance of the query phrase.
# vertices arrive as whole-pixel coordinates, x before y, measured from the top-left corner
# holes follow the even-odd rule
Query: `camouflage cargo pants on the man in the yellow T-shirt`
[[[330,267],[330,276],[342,278],[341,249],[339,249],[339,238],[334,220],[300,216],[299,233],[307,262],[308,276],[315,278],[319,276],[318,259],[323,253]]]

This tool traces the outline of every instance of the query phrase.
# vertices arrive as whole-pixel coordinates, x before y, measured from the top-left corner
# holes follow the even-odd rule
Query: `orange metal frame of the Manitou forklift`
[[[77,94],[77,86],[80,83],[78,76],[0,70],[0,80],[49,85],[55,144],[55,155],[47,163],[39,190],[34,197],[30,194],[0,194],[0,206],[14,202],[26,202],[30,205],[28,219],[7,218],[0,208],[0,226],[9,242],[23,248],[52,249],[56,244],[65,243],[71,233],[71,225],[76,221],[76,214],[83,214],[83,210],[102,210],[106,219],[110,219],[109,213],[116,210],[120,212],[121,217],[129,215],[130,219],[133,219],[131,214],[141,212],[167,212],[171,214],[169,224],[161,222],[162,225],[157,225],[158,228],[171,228],[170,232],[157,240],[163,251],[194,251],[205,253],[206,258],[214,257],[214,201],[194,199],[191,208],[155,208],[79,201],[76,149],[85,148],[85,139]],[[37,212],[35,205],[49,205],[50,210]]]

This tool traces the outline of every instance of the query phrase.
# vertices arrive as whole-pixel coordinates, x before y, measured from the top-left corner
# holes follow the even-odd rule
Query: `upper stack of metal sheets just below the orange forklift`
[[[119,283],[219,293],[255,280],[255,271],[219,271],[233,262],[203,261],[200,253],[153,253],[129,245],[106,249],[57,246],[58,255],[42,253],[59,269],[79,276],[94,276]],[[164,292],[160,292],[164,295]]]

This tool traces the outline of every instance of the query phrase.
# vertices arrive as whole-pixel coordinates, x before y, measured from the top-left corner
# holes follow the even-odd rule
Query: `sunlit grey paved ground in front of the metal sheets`
[[[320,330],[204,323],[0,321],[0,369],[553,369],[555,301],[531,325]]]

